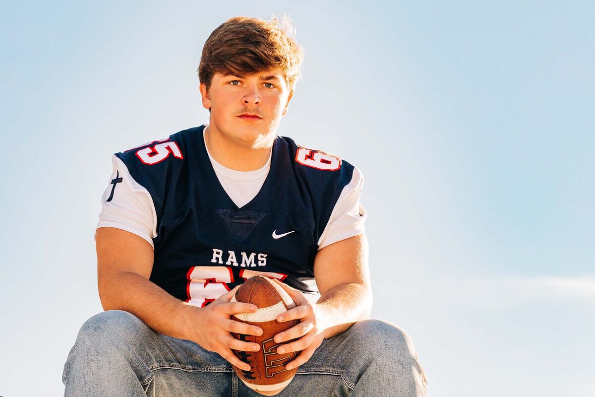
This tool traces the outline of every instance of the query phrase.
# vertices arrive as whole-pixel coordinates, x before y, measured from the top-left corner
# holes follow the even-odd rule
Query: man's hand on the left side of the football
[[[262,335],[262,329],[240,321],[231,320],[231,315],[238,313],[252,313],[258,308],[254,304],[243,302],[230,302],[231,297],[240,286],[230,292],[224,293],[215,301],[201,308],[200,320],[193,324],[191,340],[201,345],[204,349],[218,353],[231,364],[249,371],[250,365],[239,360],[231,349],[255,352],[260,349],[258,343],[242,342],[231,335],[230,332],[244,335]]]

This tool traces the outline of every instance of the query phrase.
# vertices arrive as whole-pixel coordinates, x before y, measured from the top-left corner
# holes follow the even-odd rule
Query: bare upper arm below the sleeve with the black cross
[[[153,269],[153,247],[126,230],[99,227],[95,234],[99,293],[118,273],[131,272],[146,279]]]

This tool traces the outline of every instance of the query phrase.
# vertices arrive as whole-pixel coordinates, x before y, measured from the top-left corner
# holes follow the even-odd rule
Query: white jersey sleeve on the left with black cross
[[[147,240],[154,247],[157,215],[151,194],[130,176],[128,168],[116,155],[112,157],[112,165],[114,170],[102,196],[96,229],[116,227],[126,230]]]

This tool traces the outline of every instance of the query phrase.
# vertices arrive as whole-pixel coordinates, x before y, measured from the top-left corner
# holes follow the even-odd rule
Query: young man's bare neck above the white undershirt
[[[255,171],[267,164],[273,148],[272,137],[262,137],[253,143],[237,142],[222,134],[212,124],[205,130],[205,145],[211,156],[223,167],[236,171]]]

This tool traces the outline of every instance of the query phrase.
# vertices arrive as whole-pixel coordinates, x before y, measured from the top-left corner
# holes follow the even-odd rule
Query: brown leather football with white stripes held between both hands
[[[285,369],[285,365],[297,357],[296,352],[277,354],[277,347],[290,341],[277,343],[273,340],[278,333],[299,324],[299,320],[284,323],[277,321],[277,315],[296,307],[296,304],[281,286],[264,276],[246,280],[231,298],[231,302],[234,301],[251,303],[258,308],[253,313],[235,314],[231,318],[261,327],[262,335],[231,333],[236,339],[261,345],[257,352],[234,350],[237,358],[250,364],[250,370],[245,371],[232,365],[233,369],[250,389],[265,396],[274,396],[289,385],[297,372],[297,368],[289,371]]]

